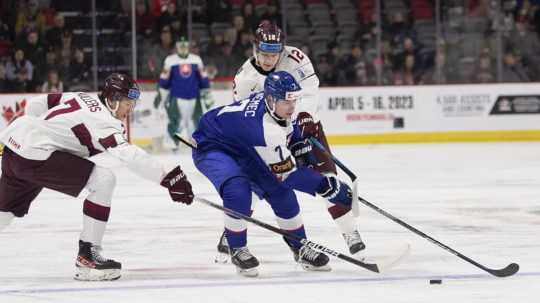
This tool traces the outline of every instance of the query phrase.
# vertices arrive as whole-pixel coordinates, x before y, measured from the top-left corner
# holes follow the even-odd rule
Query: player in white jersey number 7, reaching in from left
[[[115,187],[113,172],[89,161],[101,152],[121,160],[133,172],[169,190],[173,201],[190,204],[191,184],[180,166],[169,170],[127,142],[122,121],[140,95],[129,76],[112,74],[98,96],[49,94],[29,100],[27,114],[0,133],[5,144],[0,177],[0,230],[25,216],[43,188],[77,197],[83,206],[83,230],[76,259],[77,280],[115,280],[121,264],[103,257],[101,242]]]

